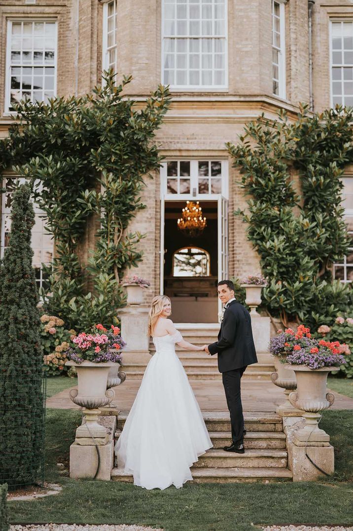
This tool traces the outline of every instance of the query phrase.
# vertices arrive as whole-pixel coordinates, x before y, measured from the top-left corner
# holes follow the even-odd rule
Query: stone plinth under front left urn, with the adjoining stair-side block
[[[87,438],[85,445],[78,444],[76,441],[70,447],[70,477],[73,478],[91,478],[109,481],[110,473],[114,466],[114,433],[116,430],[115,416],[99,416],[98,424],[105,429],[107,442],[101,444],[91,438]],[[94,437],[94,436],[93,436]],[[90,443],[90,444],[89,444]],[[97,446],[96,444],[97,443]],[[99,469],[98,467],[99,452]]]

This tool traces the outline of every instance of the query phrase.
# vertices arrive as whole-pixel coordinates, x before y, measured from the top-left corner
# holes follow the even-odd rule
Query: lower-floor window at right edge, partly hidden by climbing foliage
[[[343,177],[342,207],[345,209],[350,246],[342,262],[333,265],[333,277],[342,282],[353,282],[353,177]]]

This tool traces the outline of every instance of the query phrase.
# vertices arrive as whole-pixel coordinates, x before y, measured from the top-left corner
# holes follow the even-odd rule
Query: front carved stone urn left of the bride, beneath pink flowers
[[[92,437],[96,444],[106,444],[107,430],[98,424],[100,407],[107,406],[115,397],[113,389],[107,389],[108,372],[114,362],[93,363],[83,361],[66,362],[66,365],[76,367],[78,374],[78,388],[70,390],[70,398],[78,406],[83,407],[86,423],[76,430],[75,442],[83,446],[92,444]]]

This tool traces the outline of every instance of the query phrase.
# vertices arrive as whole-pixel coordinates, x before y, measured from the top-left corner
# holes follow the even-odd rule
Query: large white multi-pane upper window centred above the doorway
[[[163,84],[226,89],[227,52],[227,0],[162,0]]]

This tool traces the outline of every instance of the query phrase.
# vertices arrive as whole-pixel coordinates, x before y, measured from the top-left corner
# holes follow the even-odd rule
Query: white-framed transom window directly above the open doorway
[[[228,161],[217,159],[168,160],[161,167],[161,189],[166,198],[228,196]]]

